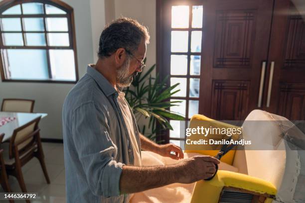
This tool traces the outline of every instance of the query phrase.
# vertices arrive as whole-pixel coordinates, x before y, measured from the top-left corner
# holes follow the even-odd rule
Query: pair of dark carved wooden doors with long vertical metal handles
[[[304,120],[305,20],[295,5],[211,0],[203,8],[199,112],[242,120],[262,109]]]

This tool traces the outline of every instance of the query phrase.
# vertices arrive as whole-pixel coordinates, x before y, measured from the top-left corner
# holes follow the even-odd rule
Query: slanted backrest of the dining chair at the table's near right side
[[[18,155],[25,154],[37,143],[37,135],[39,133],[38,123],[40,117],[16,128],[9,141],[9,158],[15,157],[16,150]]]

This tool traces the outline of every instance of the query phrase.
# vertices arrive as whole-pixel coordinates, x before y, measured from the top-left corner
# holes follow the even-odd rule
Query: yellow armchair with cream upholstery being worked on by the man
[[[279,140],[279,135],[283,133],[283,129],[281,124],[277,124],[278,120],[286,123],[290,122],[282,116],[262,110],[253,110],[247,116],[247,120],[252,122],[243,123],[243,139],[260,140],[258,143],[263,141],[265,142],[264,144],[275,139]],[[194,115],[189,127],[196,128],[197,126],[237,127],[203,115]],[[300,133],[300,136],[304,136],[301,131],[297,133]],[[188,138],[194,140],[210,139],[211,136],[208,135],[203,138],[201,134],[192,134]],[[219,140],[226,139],[222,135],[213,134],[214,138]],[[238,139],[237,135],[232,135],[232,139]],[[184,152],[215,156],[219,151],[210,145],[201,145],[200,149],[198,150],[198,146],[186,144]],[[270,150],[257,150],[246,146],[242,150],[231,150],[222,157],[221,162],[232,165],[232,167],[238,169],[238,172],[219,170],[211,181],[196,182],[191,203],[222,203],[230,201],[237,203],[242,199],[248,199],[251,203],[276,203],[277,201],[277,203],[301,203],[305,201],[302,198],[300,199],[305,192],[300,191],[300,187],[303,187],[303,179],[298,180],[300,171],[301,175],[302,173],[304,174],[301,169],[302,164],[300,164],[300,157],[302,160],[305,154],[301,154],[302,152],[290,150],[287,141],[284,139],[280,140],[279,144]]]

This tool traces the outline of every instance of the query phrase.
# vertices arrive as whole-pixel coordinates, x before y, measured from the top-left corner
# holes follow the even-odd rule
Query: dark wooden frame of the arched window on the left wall
[[[21,21],[21,31],[4,31],[5,33],[22,33],[22,38],[24,42],[24,33],[44,33],[45,34],[45,40],[47,43],[47,33],[68,33],[69,36],[69,44],[70,46],[4,46],[2,41],[2,31],[0,30],[0,49],[35,49],[35,50],[46,50],[46,57],[47,57],[47,65],[48,65],[48,73],[49,73],[49,79],[48,80],[20,80],[20,79],[6,79],[5,77],[5,66],[3,65],[3,54],[0,53],[0,75],[2,82],[26,82],[26,83],[62,83],[62,84],[76,84],[79,80],[78,76],[78,64],[77,64],[77,51],[76,51],[76,37],[75,37],[75,23],[74,23],[74,11],[73,8],[68,5],[67,3],[60,1],[60,0],[3,0],[0,2],[0,13],[5,11],[6,9],[20,4],[21,12],[22,12],[22,3],[43,3],[43,14],[10,14],[10,15],[2,15],[0,14],[0,18],[11,18],[11,17],[19,17]],[[53,5],[57,8],[62,9],[66,12],[66,14],[46,14],[45,13],[45,4]],[[44,31],[24,31],[23,30],[23,22],[22,17],[42,17],[44,20]],[[45,18],[46,17],[66,17],[67,23],[68,23],[68,31],[62,32],[62,31],[47,31],[46,30],[46,23]],[[49,50],[55,49],[55,50],[73,50],[74,52],[74,66],[75,66],[75,81],[66,81],[66,80],[52,80],[51,77],[51,64],[50,64],[50,56],[49,56]],[[7,70],[6,70],[7,71]]]

